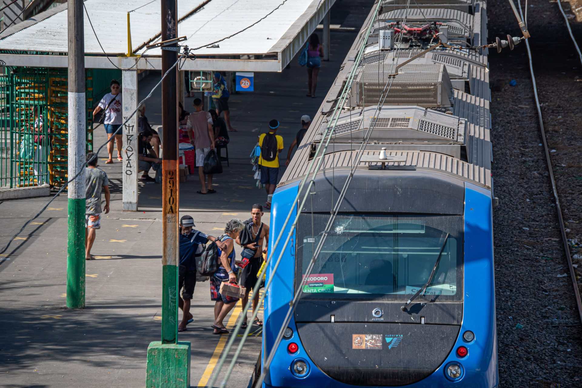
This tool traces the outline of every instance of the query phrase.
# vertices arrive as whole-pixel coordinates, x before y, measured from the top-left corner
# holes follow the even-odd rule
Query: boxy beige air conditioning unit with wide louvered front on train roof
[[[418,105],[425,108],[452,106],[452,84],[443,64],[418,64],[394,67],[368,63],[357,75],[350,96],[350,106]]]

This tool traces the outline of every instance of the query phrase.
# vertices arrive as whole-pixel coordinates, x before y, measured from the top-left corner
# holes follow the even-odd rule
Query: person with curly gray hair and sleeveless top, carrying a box
[[[220,293],[220,286],[222,282],[235,282],[237,268],[235,265],[235,244],[234,240],[239,237],[239,233],[243,230],[243,222],[239,219],[232,219],[226,223],[224,233],[219,237],[220,241],[226,244],[226,248],[221,250],[218,248],[218,257],[221,266],[218,271],[210,277],[210,298],[215,301],[214,304],[214,324],[211,326],[214,329],[214,334],[228,334],[224,323],[226,315],[235,307],[238,298],[229,297]]]

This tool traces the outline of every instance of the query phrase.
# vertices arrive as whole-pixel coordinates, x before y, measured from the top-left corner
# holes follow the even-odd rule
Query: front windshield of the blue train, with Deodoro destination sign
[[[305,279],[328,220],[329,213],[300,215],[295,284],[304,298],[407,300],[438,260],[417,301],[462,300],[462,216],[338,214]]]

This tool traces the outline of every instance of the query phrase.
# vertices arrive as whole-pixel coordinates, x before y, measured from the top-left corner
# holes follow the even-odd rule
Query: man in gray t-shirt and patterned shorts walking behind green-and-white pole
[[[97,229],[101,227],[101,191],[105,192],[105,214],[109,213],[109,179],[107,174],[97,168],[97,158],[94,152],[87,154],[87,167],[85,168],[85,259],[94,260],[91,255],[91,247],[95,241]],[[92,161],[90,159],[93,158]]]

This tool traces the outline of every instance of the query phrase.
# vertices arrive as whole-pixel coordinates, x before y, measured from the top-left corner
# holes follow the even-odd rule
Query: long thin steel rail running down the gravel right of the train
[[[560,0],[558,0],[559,2]],[[517,0],[517,5],[519,6],[519,13],[523,19],[523,13],[521,11],[521,1]],[[567,22],[567,20],[566,20]],[[564,226],[564,219],[562,216],[562,207],[560,206],[560,198],[558,195],[558,188],[556,187],[556,181],[553,176],[553,168],[552,168],[552,159],[549,156],[549,148],[548,142],[546,141],[545,130],[544,130],[544,119],[542,118],[542,110],[540,105],[540,98],[538,97],[538,87],[535,82],[535,74],[534,74],[534,67],[533,67],[533,60],[531,58],[531,49],[530,43],[526,39],[526,48],[527,48],[527,57],[530,66],[530,75],[531,75],[531,84],[534,89],[534,99],[535,99],[535,108],[538,112],[538,122],[540,123],[540,133],[542,138],[542,144],[544,145],[544,152],[545,152],[545,159],[546,164],[548,165],[548,172],[549,172],[549,179],[552,184],[552,192],[553,198],[556,204],[556,212],[558,213],[558,222],[560,225],[560,236],[562,237],[562,243],[564,246],[564,251],[566,253],[566,261],[568,263],[568,269],[570,272],[570,279],[572,280],[572,285],[574,288],[574,298],[576,298],[576,306],[578,308],[578,315],[580,318],[580,322],[582,322],[582,301],[580,300],[580,290],[578,289],[578,283],[576,280],[576,272],[574,272],[574,267],[572,265],[572,256],[570,255],[570,247],[568,245],[568,239],[566,236],[566,229]]]

